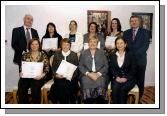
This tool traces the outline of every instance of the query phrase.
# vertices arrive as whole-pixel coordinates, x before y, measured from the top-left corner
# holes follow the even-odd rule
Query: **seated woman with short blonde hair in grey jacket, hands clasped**
[[[104,104],[107,100],[108,61],[104,51],[97,48],[98,39],[88,39],[89,49],[80,56],[79,70],[82,99],[85,104]]]

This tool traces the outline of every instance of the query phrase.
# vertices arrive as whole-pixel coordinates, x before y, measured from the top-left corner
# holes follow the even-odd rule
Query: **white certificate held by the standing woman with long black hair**
[[[58,46],[58,38],[43,38],[42,49],[52,49]]]

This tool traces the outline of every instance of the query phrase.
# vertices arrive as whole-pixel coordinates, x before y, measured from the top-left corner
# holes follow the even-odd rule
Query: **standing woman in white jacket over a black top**
[[[71,20],[69,24],[69,33],[65,35],[65,38],[69,38],[71,41],[71,51],[80,54],[83,49],[83,35],[77,31],[78,24],[75,20]]]

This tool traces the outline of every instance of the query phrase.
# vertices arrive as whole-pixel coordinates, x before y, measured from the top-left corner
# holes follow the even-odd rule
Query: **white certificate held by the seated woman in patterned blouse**
[[[43,62],[23,62],[22,78],[34,78],[43,73]]]

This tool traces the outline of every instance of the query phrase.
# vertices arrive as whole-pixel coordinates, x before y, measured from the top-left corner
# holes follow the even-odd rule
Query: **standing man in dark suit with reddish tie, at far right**
[[[145,70],[147,65],[147,49],[149,47],[150,33],[140,27],[141,18],[139,16],[130,17],[131,29],[124,32],[123,37],[128,42],[129,49],[134,53],[137,70],[136,79],[139,87],[139,100],[144,93]]]

